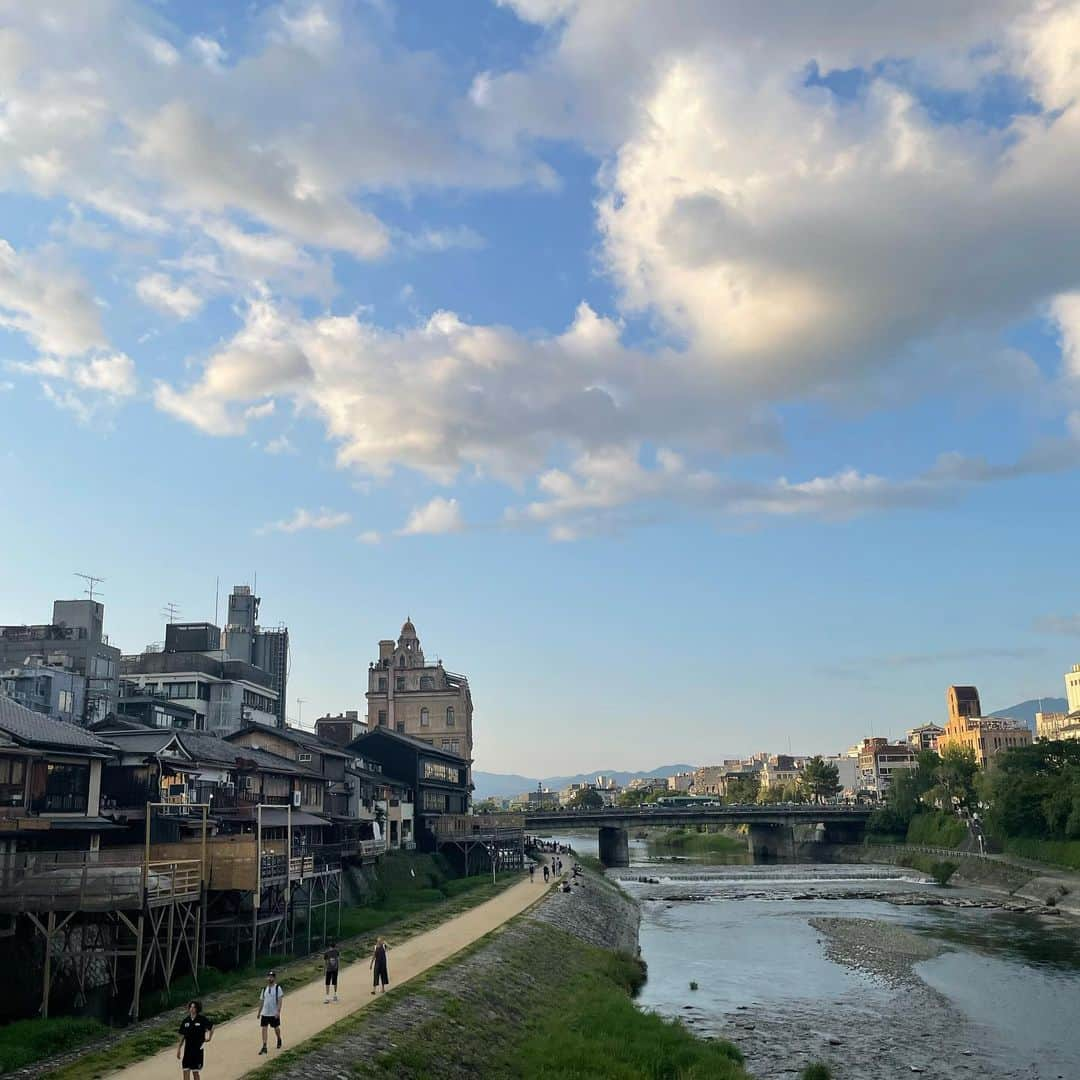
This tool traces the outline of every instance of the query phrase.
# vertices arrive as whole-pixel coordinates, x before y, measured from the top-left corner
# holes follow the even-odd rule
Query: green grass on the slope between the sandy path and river
[[[528,926],[521,937],[490,934],[464,955],[482,947],[498,950],[498,962],[482,981],[462,986],[459,996],[448,995],[436,981],[461,962],[460,954],[251,1076],[278,1076],[315,1047],[376,1024],[373,1009],[396,1003],[407,1014],[410,1000],[423,999],[436,1003],[437,1012],[410,1029],[395,1030],[392,1049],[357,1054],[353,1077],[748,1080],[730,1043],[700,1041],[680,1024],[635,1008],[631,998],[645,972],[633,957],[595,948],[543,923]]]

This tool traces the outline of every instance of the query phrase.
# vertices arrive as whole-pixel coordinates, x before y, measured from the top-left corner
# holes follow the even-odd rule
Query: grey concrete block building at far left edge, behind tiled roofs
[[[80,723],[92,724],[114,708],[118,691],[120,650],[109,645],[104,626],[104,604],[54,600],[50,623],[0,626],[0,671],[29,660],[81,676]]]

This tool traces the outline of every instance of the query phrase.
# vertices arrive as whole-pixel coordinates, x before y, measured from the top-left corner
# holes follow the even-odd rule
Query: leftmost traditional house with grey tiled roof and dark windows
[[[97,851],[102,770],[114,750],[72,724],[0,697],[0,853]]]

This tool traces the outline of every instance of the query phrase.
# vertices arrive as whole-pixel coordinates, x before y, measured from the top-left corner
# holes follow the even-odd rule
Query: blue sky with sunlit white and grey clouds
[[[1061,696],[1078,95],[1066,0],[0,0],[0,622],[254,584],[310,724],[410,616],[528,775]]]

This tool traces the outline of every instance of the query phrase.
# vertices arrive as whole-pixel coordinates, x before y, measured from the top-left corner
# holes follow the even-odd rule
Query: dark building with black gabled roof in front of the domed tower
[[[384,775],[411,789],[416,843],[421,850],[434,850],[438,818],[468,813],[472,784],[465,758],[386,725],[372,728],[348,750],[365,762],[376,762]]]

